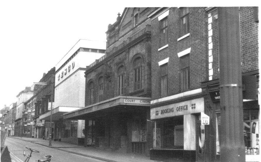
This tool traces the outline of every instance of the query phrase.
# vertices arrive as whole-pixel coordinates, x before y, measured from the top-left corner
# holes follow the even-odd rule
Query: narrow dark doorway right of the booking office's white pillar
[[[197,118],[197,117],[196,117]],[[196,119],[196,161],[204,162],[205,129],[200,116]]]

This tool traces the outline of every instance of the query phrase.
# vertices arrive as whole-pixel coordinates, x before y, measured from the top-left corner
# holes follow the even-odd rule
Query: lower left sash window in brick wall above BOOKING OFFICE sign
[[[164,64],[160,66],[161,70],[161,97],[167,96],[167,79],[168,79],[168,64]]]

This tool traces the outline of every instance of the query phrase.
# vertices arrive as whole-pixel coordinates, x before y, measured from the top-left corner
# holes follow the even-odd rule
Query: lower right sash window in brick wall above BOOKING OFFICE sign
[[[190,55],[180,57],[181,61],[181,88],[186,91],[190,86]]]

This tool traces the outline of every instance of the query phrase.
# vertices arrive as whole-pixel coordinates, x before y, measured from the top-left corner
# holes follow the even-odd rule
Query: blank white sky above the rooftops
[[[106,41],[108,24],[116,21],[124,7],[180,6],[174,1],[147,5],[148,2],[2,0],[0,109],[15,103],[16,95],[38,82],[79,39]]]

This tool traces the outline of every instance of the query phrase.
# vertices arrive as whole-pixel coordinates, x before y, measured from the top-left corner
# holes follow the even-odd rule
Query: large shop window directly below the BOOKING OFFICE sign
[[[167,118],[164,121],[156,121],[156,132],[153,128],[153,141],[154,148],[183,149],[183,118]]]

